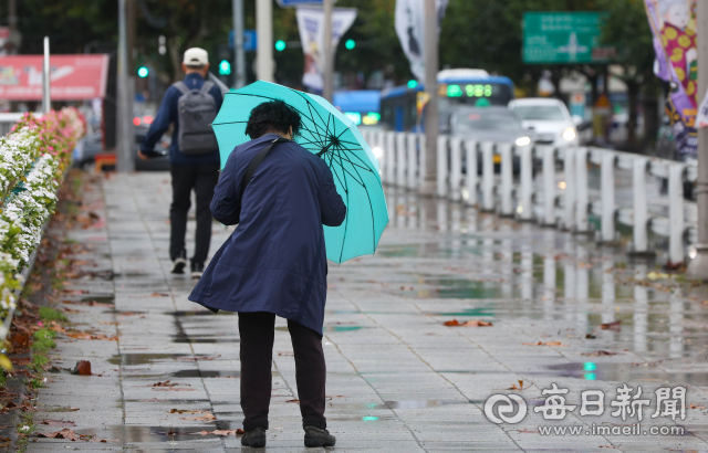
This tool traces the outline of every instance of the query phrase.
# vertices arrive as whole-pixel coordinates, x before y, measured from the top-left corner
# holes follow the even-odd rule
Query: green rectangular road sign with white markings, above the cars
[[[603,12],[527,12],[524,63],[606,63],[614,48],[603,48]]]

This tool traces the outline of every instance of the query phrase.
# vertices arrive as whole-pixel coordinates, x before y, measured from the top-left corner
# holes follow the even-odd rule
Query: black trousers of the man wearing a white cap
[[[209,204],[214,197],[214,188],[219,182],[219,164],[174,165],[169,171],[173,176],[173,203],[169,207],[171,225],[169,257],[174,261],[185,250],[187,212],[191,206],[189,197],[194,189],[197,194],[197,244],[191,260],[204,264],[211,242]]]

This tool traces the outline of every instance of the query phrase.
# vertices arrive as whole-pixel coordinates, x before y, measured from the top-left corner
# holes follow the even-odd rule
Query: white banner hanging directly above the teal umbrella
[[[319,8],[298,8],[296,17],[302,52],[305,54],[302,84],[321,92],[324,87],[324,14]],[[355,19],[355,9],[334,9],[332,13],[333,49],[336,49],[340,39],[352,27]]]

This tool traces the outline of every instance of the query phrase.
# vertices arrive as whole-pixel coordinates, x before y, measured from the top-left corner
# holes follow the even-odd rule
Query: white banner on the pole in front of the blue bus
[[[420,82],[425,81],[425,0],[396,0],[396,34],[403,52],[410,62],[410,72]],[[436,0],[438,34],[448,0]]]

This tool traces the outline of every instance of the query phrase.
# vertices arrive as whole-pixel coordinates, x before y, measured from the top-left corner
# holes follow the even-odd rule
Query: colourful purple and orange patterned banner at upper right
[[[680,154],[696,155],[698,53],[696,0],[645,0],[654,34],[656,75],[669,83],[667,109]]]

